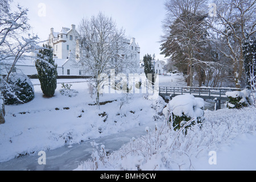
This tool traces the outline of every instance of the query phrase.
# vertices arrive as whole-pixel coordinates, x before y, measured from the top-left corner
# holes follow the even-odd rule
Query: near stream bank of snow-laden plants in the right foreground
[[[255,170],[255,125],[254,107],[205,111],[201,129],[193,126],[186,136],[171,131],[163,123],[109,156],[102,150],[96,151],[93,160],[84,162],[76,170]],[[209,167],[210,151],[217,154],[217,165],[212,168]],[[232,157],[234,159],[229,160]]]

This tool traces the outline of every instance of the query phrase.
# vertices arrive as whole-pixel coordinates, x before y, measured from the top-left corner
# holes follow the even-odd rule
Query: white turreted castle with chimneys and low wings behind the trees
[[[135,43],[135,38],[126,40],[128,48],[135,55],[136,60],[140,59],[140,50],[138,43]],[[53,28],[50,30],[49,38],[46,42],[53,48],[53,59],[57,64],[57,72],[59,76],[88,76],[82,68],[74,67],[73,61],[70,58],[70,53],[76,54],[76,59],[81,57],[79,51],[79,33],[76,31],[76,26],[71,25],[71,28],[63,27],[60,32],[55,32]],[[24,73],[25,75],[37,75],[38,72],[35,67],[36,53],[31,53],[31,58],[20,59],[15,65],[14,72]],[[10,70],[13,61],[6,60],[0,63],[0,73],[7,75],[7,71]]]

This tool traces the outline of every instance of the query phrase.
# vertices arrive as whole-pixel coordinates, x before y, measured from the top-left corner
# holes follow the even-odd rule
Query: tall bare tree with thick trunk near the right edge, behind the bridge
[[[228,49],[220,50],[232,60],[234,81],[241,88],[244,73],[243,42],[246,36],[256,32],[256,1],[255,0],[216,0],[217,17],[214,18],[213,30],[217,39],[225,42]]]

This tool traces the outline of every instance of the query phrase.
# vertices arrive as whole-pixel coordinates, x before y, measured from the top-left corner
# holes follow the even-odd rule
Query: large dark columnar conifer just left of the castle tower
[[[53,60],[53,51],[50,46],[43,45],[39,50],[36,69],[44,96],[53,97],[57,88],[57,65]]]

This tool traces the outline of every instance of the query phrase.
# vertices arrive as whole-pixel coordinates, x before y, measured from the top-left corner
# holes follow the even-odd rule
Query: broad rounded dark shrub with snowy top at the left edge
[[[24,104],[35,97],[30,78],[22,73],[11,73],[9,80],[3,80],[1,88],[6,105]]]

